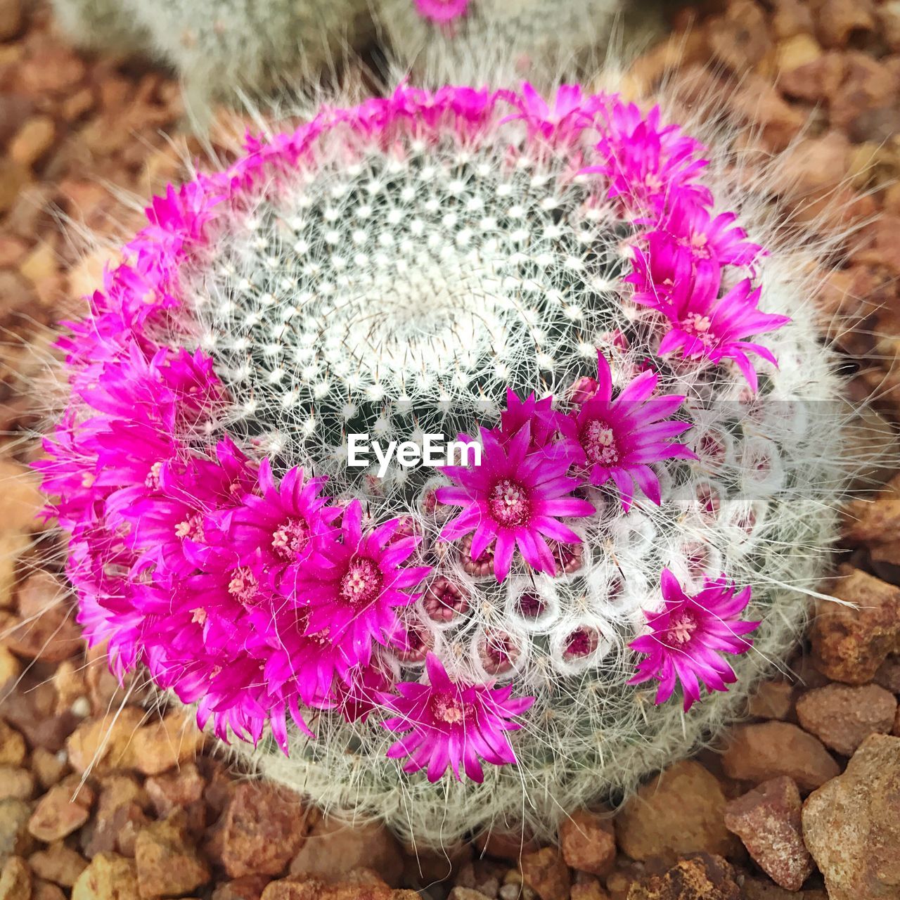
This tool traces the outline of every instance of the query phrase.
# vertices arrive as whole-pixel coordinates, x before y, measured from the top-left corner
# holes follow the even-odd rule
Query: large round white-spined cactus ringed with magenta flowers
[[[846,485],[815,247],[613,94],[303,121],[157,197],[61,342],[79,619],[332,812],[546,833],[803,625]]]

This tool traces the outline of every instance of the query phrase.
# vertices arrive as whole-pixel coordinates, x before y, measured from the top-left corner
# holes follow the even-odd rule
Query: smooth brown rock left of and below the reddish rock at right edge
[[[788,722],[738,725],[722,766],[729,778],[756,784],[787,775],[802,791],[818,788],[841,771],[817,738]]]

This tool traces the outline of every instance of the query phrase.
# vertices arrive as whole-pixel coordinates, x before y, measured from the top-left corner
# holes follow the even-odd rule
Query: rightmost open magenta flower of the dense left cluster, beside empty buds
[[[386,645],[401,633],[396,610],[419,599],[408,589],[431,571],[405,565],[419,538],[392,540],[400,519],[365,534],[362,519],[362,504],[353,500],[341,519],[340,540],[326,541],[321,554],[298,569],[295,581],[298,601],[309,608],[306,633],[329,635],[350,666],[367,666],[373,644]]]

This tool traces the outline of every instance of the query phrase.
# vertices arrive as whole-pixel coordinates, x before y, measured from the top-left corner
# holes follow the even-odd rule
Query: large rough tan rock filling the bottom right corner
[[[900,897],[900,738],[872,734],[807,797],[803,834],[831,900]]]

